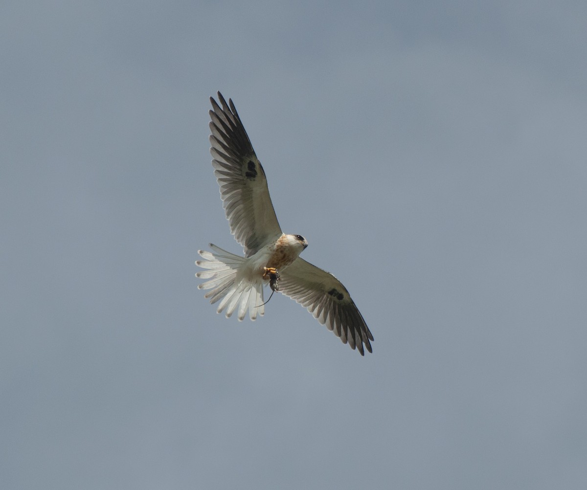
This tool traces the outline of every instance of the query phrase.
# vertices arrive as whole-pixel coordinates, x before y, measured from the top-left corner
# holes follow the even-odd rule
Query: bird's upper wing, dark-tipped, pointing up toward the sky
[[[210,97],[210,153],[214,175],[220,185],[224,211],[234,238],[255,254],[269,241],[281,236],[265,172],[242,126],[231,99],[228,104],[218,92],[222,107]]]

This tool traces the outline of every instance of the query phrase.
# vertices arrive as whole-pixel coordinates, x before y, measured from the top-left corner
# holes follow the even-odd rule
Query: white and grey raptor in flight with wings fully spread
[[[237,309],[239,320],[249,312],[251,320],[264,315],[263,288],[271,295],[279,291],[296,300],[343,343],[373,352],[363,316],[345,286],[331,273],[306,262],[299,254],[308,246],[302,235],[281,231],[265,178],[255,151],[231,99],[228,104],[218,92],[220,105],[210,97],[210,153],[214,175],[220,185],[230,231],[244,248],[244,257],[210,244],[211,252],[199,250],[204,259],[196,261],[204,271],[198,278],[208,281],[198,289],[218,303],[217,313],[230,317]],[[271,296],[269,296],[271,299]]]

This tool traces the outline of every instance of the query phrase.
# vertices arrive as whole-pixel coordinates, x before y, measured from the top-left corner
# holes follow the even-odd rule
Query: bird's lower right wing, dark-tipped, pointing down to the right
[[[279,275],[279,290],[284,295],[306,307],[343,343],[348,342],[352,349],[356,346],[362,356],[363,344],[373,352],[369,342],[373,335],[348,290],[335,276],[299,257]]]

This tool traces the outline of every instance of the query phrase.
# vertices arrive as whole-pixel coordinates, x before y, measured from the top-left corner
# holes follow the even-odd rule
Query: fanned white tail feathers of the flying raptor
[[[210,279],[198,285],[198,289],[212,289],[208,291],[204,298],[210,298],[210,303],[215,303],[222,298],[217,313],[221,313],[226,308],[226,317],[229,318],[238,303],[238,320],[241,321],[247,315],[251,320],[257,319],[259,315],[265,314],[263,305],[263,282],[259,278],[254,281],[247,276],[243,266],[247,259],[238,255],[231,254],[216,245],[210,244],[214,253],[204,250],[198,250],[198,254],[205,259],[204,261],[195,261],[195,265],[208,271],[196,273],[197,278]]]

